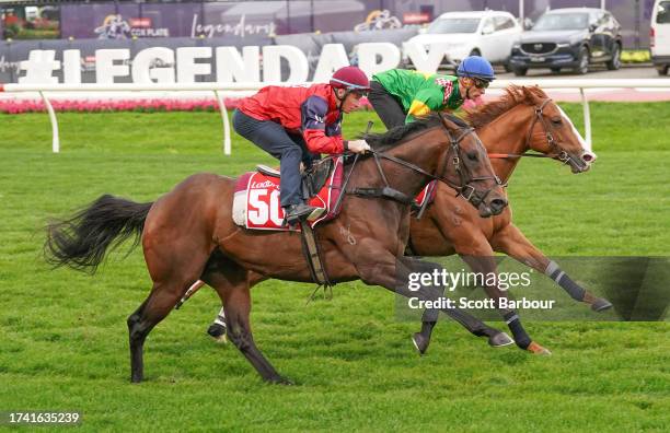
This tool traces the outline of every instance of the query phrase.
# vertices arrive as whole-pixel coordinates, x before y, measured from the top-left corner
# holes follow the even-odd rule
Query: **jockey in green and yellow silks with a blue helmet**
[[[372,77],[368,100],[391,129],[431,112],[454,110],[482,96],[495,79],[490,63],[477,56],[465,58],[457,75],[391,69]]]

